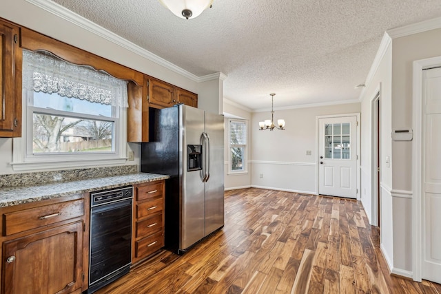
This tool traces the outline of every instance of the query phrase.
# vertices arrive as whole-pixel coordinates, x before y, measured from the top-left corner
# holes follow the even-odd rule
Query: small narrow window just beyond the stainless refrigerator
[[[229,172],[247,172],[247,121],[229,119]]]

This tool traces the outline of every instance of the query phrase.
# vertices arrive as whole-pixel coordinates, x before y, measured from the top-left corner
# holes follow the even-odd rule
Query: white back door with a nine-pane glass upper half
[[[318,193],[357,198],[357,116],[319,118]]]

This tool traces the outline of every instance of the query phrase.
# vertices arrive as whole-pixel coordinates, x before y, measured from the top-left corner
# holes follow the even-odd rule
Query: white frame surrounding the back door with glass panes
[[[316,116],[316,195],[318,195],[319,193],[319,178],[318,178],[318,169],[320,167],[320,158],[318,158],[318,154],[319,150],[320,150],[320,146],[319,146],[319,136],[320,136],[320,123],[319,120],[320,118],[340,118],[340,117],[347,117],[347,116],[356,116],[357,118],[357,125],[356,125],[356,130],[357,130],[357,134],[356,134],[356,141],[357,141],[357,148],[356,148],[356,171],[357,171],[357,177],[356,177],[356,189],[357,189],[357,195],[356,195],[356,200],[360,200],[360,150],[361,150],[361,145],[360,145],[360,112],[356,112],[356,113],[352,113],[352,114],[329,114],[326,116]]]

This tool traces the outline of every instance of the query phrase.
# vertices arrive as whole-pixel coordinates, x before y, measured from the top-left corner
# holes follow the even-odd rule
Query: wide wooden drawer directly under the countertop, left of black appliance
[[[12,235],[83,215],[84,199],[4,213],[3,234]]]

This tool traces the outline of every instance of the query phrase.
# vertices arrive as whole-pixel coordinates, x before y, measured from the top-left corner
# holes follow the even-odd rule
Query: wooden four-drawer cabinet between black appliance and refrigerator
[[[164,246],[165,180],[134,185],[132,264]]]

